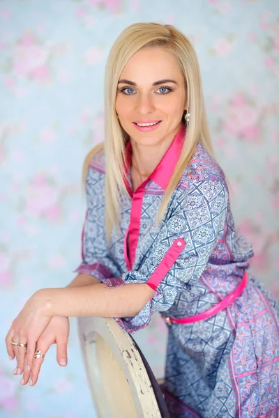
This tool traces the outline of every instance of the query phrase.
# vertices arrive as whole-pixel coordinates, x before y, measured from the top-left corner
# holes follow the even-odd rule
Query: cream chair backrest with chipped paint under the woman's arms
[[[113,318],[77,318],[98,418],[161,418],[149,376],[130,335]]]

